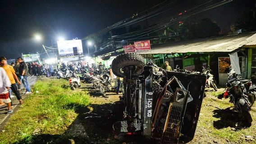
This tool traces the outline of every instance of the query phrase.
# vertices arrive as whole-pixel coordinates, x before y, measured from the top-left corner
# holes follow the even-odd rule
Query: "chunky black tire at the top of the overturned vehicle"
[[[125,73],[122,72],[122,69],[125,66],[135,66],[135,70],[132,73],[132,76],[138,76],[144,71],[144,58],[136,53],[125,53],[114,58],[112,62],[112,71],[114,75],[119,77],[124,77]]]

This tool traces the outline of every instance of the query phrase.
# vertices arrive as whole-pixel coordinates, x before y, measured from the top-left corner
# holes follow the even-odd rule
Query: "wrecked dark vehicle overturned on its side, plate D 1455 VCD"
[[[206,76],[165,71],[136,53],[117,56],[112,70],[124,78],[124,119],[113,124],[115,135],[141,134],[161,144],[193,139]]]

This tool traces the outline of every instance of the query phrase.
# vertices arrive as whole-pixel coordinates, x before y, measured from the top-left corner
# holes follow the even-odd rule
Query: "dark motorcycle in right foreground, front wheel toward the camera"
[[[235,108],[242,115],[243,120],[247,124],[251,124],[252,118],[250,114],[250,101],[248,96],[244,94],[245,87],[241,81],[236,78],[227,81],[224,98],[230,98],[230,101],[234,104]]]

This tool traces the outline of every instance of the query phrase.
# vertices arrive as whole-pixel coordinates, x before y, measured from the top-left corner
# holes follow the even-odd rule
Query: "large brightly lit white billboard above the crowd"
[[[59,57],[70,57],[83,55],[82,40],[61,40],[57,41]]]

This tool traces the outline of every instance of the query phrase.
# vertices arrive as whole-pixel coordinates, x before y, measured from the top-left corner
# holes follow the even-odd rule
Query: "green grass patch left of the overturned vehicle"
[[[69,90],[64,80],[38,80],[32,89],[33,94],[0,132],[0,144],[33,143],[33,133],[61,135],[78,115],[75,105],[89,105],[88,95]]]

